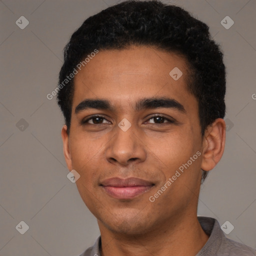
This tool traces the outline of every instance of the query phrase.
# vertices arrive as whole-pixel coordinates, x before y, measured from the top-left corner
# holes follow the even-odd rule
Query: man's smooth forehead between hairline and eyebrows
[[[193,96],[186,85],[186,61],[175,53],[147,46],[99,50],[74,77],[72,107],[84,98],[108,98],[127,107],[153,96],[188,104]]]

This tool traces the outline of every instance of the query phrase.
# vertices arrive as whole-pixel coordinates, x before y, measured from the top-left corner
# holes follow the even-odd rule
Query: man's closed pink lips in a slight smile
[[[105,179],[100,184],[111,197],[130,199],[148,191],[154,184],[150,181],[130,177],[126,179],[114,177]]]

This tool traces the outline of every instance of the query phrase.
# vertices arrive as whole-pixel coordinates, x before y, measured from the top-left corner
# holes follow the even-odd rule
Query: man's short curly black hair
[[[225,115],[225,66],[209,27],[179,6],[158,0],[127,0],[88,17],[64,47],[59,84],[88,54],[97,50],[153,46],[182,55],[189,67],[187,90],[199,108],[201,135],[216,118]],[[73,78],[57,93],[69,133]],[[203,170],[202,180],[208,172]]]

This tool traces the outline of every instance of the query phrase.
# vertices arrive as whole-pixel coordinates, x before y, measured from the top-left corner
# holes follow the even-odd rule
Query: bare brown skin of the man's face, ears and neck
[[[174,80],[169,72],[183,75]],[[95,215],[104,256],[195,255],[208,235],[197,220],[201,169],[211,170],[225,143],[225,122],[217,118],[202,137],[198,102],[186,90],[186,61],[174,53],[147,46],[99,51],[74,78],[70,132],[62,127],[68,169],[80,178],[78,191]],[[134,109],[141,98],[169,97],[184,106]],[[107,99],[113,109],[88,108],[75,113],[84,99]],[[93,114],[102,119],[90,119]],[[153,118],[158,114],[175,122]],[[86,118],[87,117],[87,118]],[[127,131],[118,127],[126,118]],[[94,122],[94,125],[93,125]],[[158,122],[158,123],[157,123]],[[201,155],[154,201],[154,195],[196,151]],[[132,199],[116,199],[100,182],[110,177],[138,177],[154,183]]]

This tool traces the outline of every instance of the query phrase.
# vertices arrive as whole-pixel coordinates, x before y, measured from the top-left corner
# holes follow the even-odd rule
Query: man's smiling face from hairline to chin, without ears
[[[183,73],[177,80],[177,69],[169,74],[174,67]],[[143,233],[196,214],[202,138],[198,103],[185,78],[184,59],[145,46],[99,51],[76,74],[66,161],[80,174],[78,191],[99,227]],[[80,104],[86,99],[109,107]],[[105,181],[114,177],[147,182],[123,188]]]

